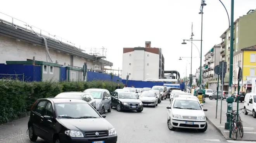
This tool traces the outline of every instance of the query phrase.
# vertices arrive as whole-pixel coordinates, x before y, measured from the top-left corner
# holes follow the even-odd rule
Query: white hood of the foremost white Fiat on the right
[[[178,114],[181,116],[205,116],[203,110],[190,110],[190,109],[176,109],[172,108],[173,114]]]

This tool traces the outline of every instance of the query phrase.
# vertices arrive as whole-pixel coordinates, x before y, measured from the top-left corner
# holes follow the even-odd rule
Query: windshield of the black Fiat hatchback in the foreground
[[[55,103],[55,111],[58,118],[100,118],[88,103]]]

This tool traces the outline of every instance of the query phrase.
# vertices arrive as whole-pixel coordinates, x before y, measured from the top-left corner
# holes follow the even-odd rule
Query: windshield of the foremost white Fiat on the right
[[[178,109],[190,109],[190,110],[201,110],[201,106],[198,101],[193,100],[176,100],[173,104],[173,108]]]

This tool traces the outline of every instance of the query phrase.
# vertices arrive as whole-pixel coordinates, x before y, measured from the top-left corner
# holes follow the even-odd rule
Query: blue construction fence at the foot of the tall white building
[[[122,80],[123,84],[126,84],[126,79]],[[166,82],[151,82],[151,81],[133,81],[133,80],[128,80],[127,81],[127,86],[131,87],[133,85],[136,88],[143,88],[143,87],[153,87],[153,86],[163,86]],[[175,86],[173,86],[175,87]],[[185,82],[182,82],[180,84],[180,89],[185,89]]]

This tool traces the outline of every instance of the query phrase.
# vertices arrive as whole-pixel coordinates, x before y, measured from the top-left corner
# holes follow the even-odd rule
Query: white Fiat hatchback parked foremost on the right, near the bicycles
[[[174,131],[176,128],[192,128],[200,132],[207,130],[207,122],[204,111],[199,101],[195,98],[178,97],[171,101],[167,107],[168,128]]]

